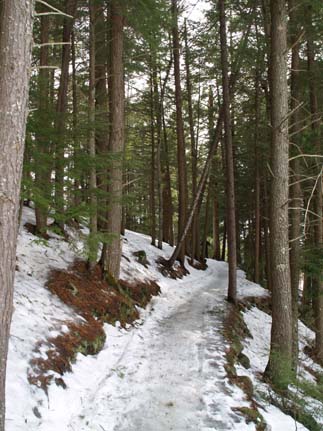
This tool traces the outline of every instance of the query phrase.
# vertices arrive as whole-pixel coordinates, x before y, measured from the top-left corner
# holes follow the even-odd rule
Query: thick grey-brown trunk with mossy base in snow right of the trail
[[[292,370],[292,307],[288,238],[288,86],[285,0],[271,0],[271,264],[272,329],[266,374],[281,387]],[[289,378],[290,376],[288,376]]]

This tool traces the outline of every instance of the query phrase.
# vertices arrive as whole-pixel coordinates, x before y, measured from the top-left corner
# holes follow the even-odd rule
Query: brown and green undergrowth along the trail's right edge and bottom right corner
[[[256,424],[258,431],[266,430],[266,423],[258,411],[257,402],[254,400],[254,388],[251,380],[247,376],[238,376],[235,369],[236,363],[241,363],[245,368],[249,368],[249,359],[243,354],[242,340],[251,337],[248,327],[246,326],[241,310],[250,308],[252,305],[257,306],[262,311],[270,314],[270,301],[260,298],[245,298],[240,301],[237,308],[232,308],[225,325],[224,335],[230,341],[230,348],[227,351],[226,371],[230,381],[239,386],[246,394],[247,399],[251,402],[251,408],[236,408],[247,420]],[[308,353],[308,352],[307,352]],[[284,366],[282,361],[282,373],[284,374]],[[290,415],[303,424],[310,431],[322,431],[315,416],[322,416],[323,411],[323,375],[315,373],[311,369],[308,372],[315,377],[315,382],[310,382],[300,376],[291,376],[290,371],[286,367],[286,376],[282,379],[288,380],[288,389],[281,390],[279,387],[274,387],[270,382],[270,390],[268,394],[260,394],[264,399],[278,407],[284,413]],[[313,401],[318,403],[317,407],[313,406]]]

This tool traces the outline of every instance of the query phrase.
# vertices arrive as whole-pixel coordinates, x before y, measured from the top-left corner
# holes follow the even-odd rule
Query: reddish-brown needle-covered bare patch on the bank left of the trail
[[[103,280],[99,266],[89,272],[86,262],[80,260],[68,270],[53,270],[47,287],[83,319],[64,322],[66,331],[37,344],[28,379],[45,391],[53,380],[65,387],[63,378],[57,376],[71,371],[78,353],[95,355],[103,348],[104,323],[132,324],[139,317],[138,307],[146,307],[160,292],[154,281],[120,281],[112,286]]]

